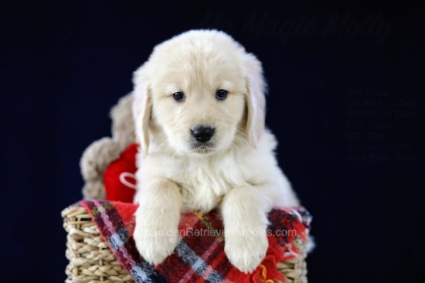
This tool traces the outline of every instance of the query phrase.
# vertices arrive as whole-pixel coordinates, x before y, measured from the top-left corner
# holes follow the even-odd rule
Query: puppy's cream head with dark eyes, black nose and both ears
[[[145,156],[155,138],[178,154],[213,154],[244,141],[255,147],[263,132],[261,63],[225,33],[192,30],[157,45],[133,81]]]

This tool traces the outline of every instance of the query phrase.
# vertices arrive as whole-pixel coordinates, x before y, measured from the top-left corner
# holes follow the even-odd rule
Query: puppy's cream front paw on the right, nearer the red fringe
[[[225,236],[225,253],[234,267],[242,272],[252,272],[266,256],[266,233],[234,230]]]

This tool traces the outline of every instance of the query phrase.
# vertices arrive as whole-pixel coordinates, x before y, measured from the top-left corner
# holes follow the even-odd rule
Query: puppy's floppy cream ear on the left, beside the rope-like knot
[[[149,147],[149,122],[152,116],[152,98],[149,88],[148,64],[145,63],[133,75],[134,91],[132,112],[135,119],[136,137],[142,148],[142,157]]]

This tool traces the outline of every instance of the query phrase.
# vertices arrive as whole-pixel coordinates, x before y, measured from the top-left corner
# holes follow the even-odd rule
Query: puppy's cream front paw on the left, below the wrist
[[[150,264],[163,262],[177,246],[179,234],[176,229],[161,224],[145,225],[140,221],[135,226],[135,243],[140,255]]]

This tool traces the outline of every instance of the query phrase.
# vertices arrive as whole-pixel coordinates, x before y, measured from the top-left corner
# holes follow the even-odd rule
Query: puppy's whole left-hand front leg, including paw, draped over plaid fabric
[[[158,178],[148,182],[137,198],[136,247],[147,262],[159,264],[173,253],[179,238],[180,190],[171,180]]]

